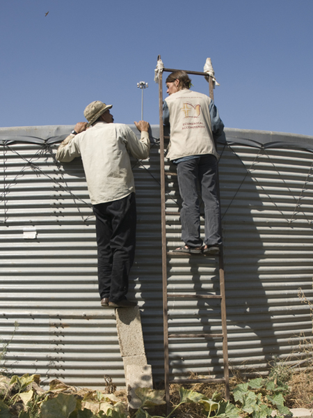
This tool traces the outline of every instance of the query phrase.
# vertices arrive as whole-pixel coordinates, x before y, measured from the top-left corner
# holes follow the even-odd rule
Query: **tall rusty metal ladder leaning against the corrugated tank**
[[[161,56],[158,56],[158,61]],[[172,68],[163,68],[163,72],[177,71]],[[186,71],[191,75],[208,76],[206,72]],[[213,79],[209,76],[209,96],[214,100],[213,94]],[[224,276],[224,259],[223,259],[223,246],[220,247],[219,258],[219,294],[205,294],[205,295],[186,295],[186,294],[175,294],[168,293],[168,273],[167,273],[167,261],[168,256],[175,256],[175,252],[169,253],[167,251],[166,244],[166,215],[178,215],[178,212],[170,212],[166,210],[166,176],[177,176],[177,173],[166,172],[164,164],[164,139],[170,139],[170,137],[164,137],[163,130],[163,86],[162,86],[162,72],[159,72],[159,118],[160,118],[160,165],[161,165],[161,231],[162,231],[162,277],[163,277],[163,346],[164,346],[164,385],[166,389],[166,403],[169,406],[170,403],[170,383],[198,383],[198,382],[223,382],[225,384],[225,399],[230,398],[230,387],[229,387],[229,369],[228,369],[228,354],[227,354],[227,326],[226,326],[226,304],[225,304],[225,276]],[[217,181],[218,187],[218,199],[220,199],[219,182]],[[222,233],[221,224],[219,225],[220,234]],[[182,255],[176,253],[177,256]],[[186,254],[184,254],[186,256]],[[202,255],[203,257],[204,255]],[[192,255],[191,257],[197,257]],[[168,333],[168,298],[175,297],[179,298],[195,298],[205,299],[209,302],[209,299],[220,300],[220,317],[222,325],[221,334],[169,334]],[[169,373],[169,353],[168,353],[168,339],[170,338],[221,338],[223,339],[223,378],[201,378],[201,379],[176,379],[170,380]]]

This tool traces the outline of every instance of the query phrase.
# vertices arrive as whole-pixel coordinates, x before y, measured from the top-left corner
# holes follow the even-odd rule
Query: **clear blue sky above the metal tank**
[[[133,123],[140,81],[157,124],[161,54],[195,71],[211,58],[226,127],[313,135],[312,22],[312,0],[2,0],[0,127],[72,125],[93,100]]]

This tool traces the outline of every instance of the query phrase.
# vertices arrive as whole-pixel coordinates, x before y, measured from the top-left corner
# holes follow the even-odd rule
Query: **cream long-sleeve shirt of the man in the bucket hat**
[[[149,151],[147,132],[138,139],[127,125],[98,122],[80,134],[70,134],[58,147],[56,158],[70,162],[81,156],[90,200],[96,205],[135,192],[129,153],[145,160]]]

